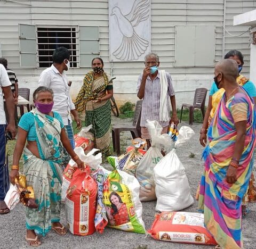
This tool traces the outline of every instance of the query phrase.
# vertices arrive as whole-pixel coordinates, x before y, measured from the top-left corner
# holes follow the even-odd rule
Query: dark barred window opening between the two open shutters
[[[66,47],[70,51],[70,67],[77,68],[78,39],[76,28],[37,27],[39,68],[51,67],[52,53],[58,47]]]

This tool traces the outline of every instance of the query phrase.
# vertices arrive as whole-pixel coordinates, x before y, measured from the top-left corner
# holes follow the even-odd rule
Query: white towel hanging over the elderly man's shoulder
[[[159,70],[160,74],[160,87],[161,87],[161,94],[160,94],[160,107],[159,107],[159,118],[160,121],[169,121],[169,110],[167,108],[167,91],[168,91],[168,82],[167,77],[164,70]]]

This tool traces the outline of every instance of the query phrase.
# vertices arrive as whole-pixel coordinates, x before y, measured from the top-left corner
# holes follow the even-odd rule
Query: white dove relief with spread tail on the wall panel
[[[110,15],[115,16],[118,29],[122,34],[122,41],[113,52],[113,56],[122,61],[138,60],[147,50],[149,40],[140,37],[134,28],[150,17],[150,0],[135,0],[127,15],[115,6],[111,9]]]

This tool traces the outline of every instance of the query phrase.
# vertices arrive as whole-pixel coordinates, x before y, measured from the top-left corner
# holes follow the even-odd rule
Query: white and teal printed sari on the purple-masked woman
[[[38,112],[31,111],[35,118],[37,147],[40,158],[26,147],[23,151],[23,173],[27,186],[33,186],[37,209],[26,207],[26,228],[45,236],[51,230],[52,222],[60,221],[61,201],[61,155],[60,121]]]

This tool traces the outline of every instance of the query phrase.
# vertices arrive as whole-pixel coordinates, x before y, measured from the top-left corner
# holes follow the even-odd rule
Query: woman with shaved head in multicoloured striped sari
[[[253,100],[237,84],[237,73],[231,59],[215,66],[214,81],[225,93],[207,133],[210,143],[203,153],[205,174],[199,192],[205,226],[225,249],[243,248],[242,198],[251,177],[256,142]]]

